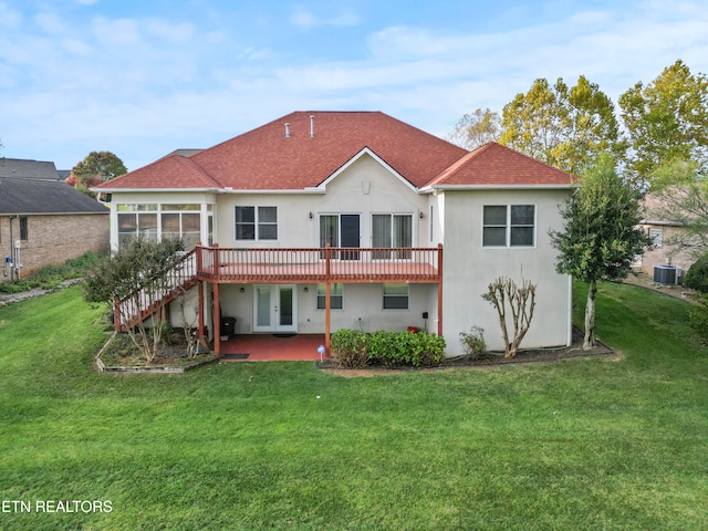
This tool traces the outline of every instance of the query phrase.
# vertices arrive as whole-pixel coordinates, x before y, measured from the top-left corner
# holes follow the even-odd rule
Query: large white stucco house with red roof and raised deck
[[[478,325],[503,348],[496,278],[538,285],[525,347],[571,342],[571,280],[549,229],[571,178],[496,143],[467,152],[381,112],[295,112],[96,188],[111,242],[179,236],[200,329],[236,334],[342,327],[444,335]],[[236,319],[229,324],[226,317]]]

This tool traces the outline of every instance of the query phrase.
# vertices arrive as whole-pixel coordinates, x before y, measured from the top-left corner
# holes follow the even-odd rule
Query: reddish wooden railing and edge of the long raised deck
[[[442,247],[232,249],[197,246],[210,282],[438,282]]]

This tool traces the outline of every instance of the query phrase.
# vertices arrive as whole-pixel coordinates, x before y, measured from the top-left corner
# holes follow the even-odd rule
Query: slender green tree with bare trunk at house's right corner
[[[626,183],[615,169],[610,154],[584,173],[561,216],[562,231],[550,231],[559,250],[556,271],[589,282],[585,304],[583,348],[595,345],[595,295],[598,280],[627,277],[635,258],[650,246],[650,239],[637,225],[642,220],[642,194]]]

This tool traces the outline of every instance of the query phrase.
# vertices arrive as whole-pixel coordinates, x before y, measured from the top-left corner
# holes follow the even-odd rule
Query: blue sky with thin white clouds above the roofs
[[[136,169],[292,111],[383,111],[446,136],[534,80],[616,103],[708,72],[704,0],[0,0],[0,155]]]

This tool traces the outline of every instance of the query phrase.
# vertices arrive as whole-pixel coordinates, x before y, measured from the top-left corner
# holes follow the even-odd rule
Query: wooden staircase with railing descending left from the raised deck
[[[157,275],[159,283],[148,284],[136,290],[114,304],[114,325],[121,332],[135,326],[140,321],[156,312],[160,312],[166,304],[185,293],[197,283],[197,259],[194,250],[185,253],[166,275]]]

